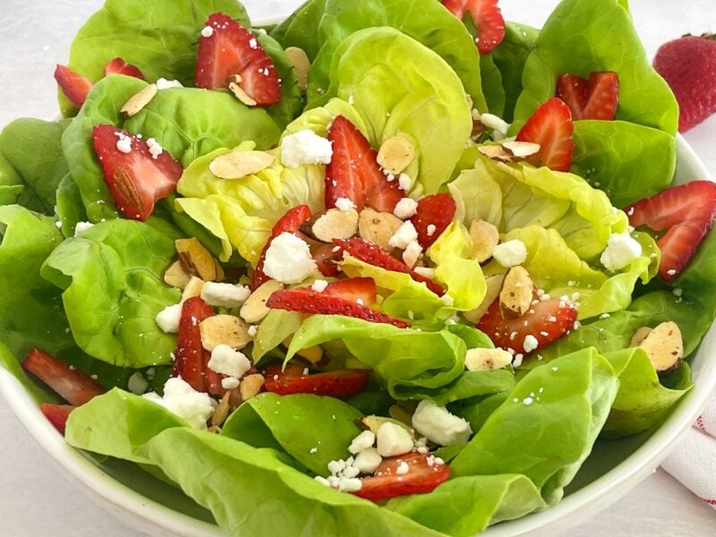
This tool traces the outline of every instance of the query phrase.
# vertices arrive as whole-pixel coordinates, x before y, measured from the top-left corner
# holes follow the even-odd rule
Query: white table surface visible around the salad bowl
[[[359,0],[356,0],[359,1]],[[587,0],[585,0],[587,1]],[[56,115],[57,63],[101,0],[0,1],[0,125],[19,116]],[[253,20],[290,13],[296,0],[246,0]],[[500,0],[506,18],[541,26],[556,0]],[[716,31],[716,0],[631,0],[650,57],[685,33]],[[716,115],[686,133],[716,175]],[[567,533],[574,537],[716,534],[716,512],[657,471],[616,506]],[[0,398],[0,535],[134,537],[143,535],[95,506],[64,480]]]

